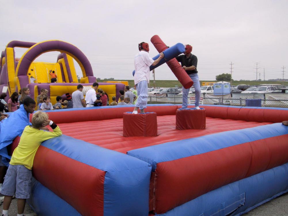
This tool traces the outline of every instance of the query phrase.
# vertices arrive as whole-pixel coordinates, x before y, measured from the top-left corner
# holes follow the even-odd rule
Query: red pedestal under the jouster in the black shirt
[[[176,129],[205,129],[206,114],[205,109],[177,109],[176,111]]]

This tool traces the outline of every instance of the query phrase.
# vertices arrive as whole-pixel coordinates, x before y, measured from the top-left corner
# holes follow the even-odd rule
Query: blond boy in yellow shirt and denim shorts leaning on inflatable
[[[53,132],[40,130],[43,126],[50,125]],[[32,126],[26,126],[14,150],[8,167],[1,194],[5,195],[3,202],[3,216],[8,216],[8,209],[15,194],[18,198],[18,214],[23,216],[26,199],[30,198],[33,160],[41,142],[62,135],[60,128],[51,120],[48,114],[38,111],[33,114]]]

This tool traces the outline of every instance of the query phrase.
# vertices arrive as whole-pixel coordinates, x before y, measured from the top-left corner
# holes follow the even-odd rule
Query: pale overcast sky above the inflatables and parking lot
[[[181,4],[180,2],[185,2]],[[78,47],[90,60],[94,76],[133,79],[138,43],[159,35],[168,46],[191,44],[200,80],[221,73],[232,78],[282,78],[288,66],[288,1],[3,1],[0,50],[9,41],[59,39]],[[26,49],[16,48],[16,57]],[[56,62],[59,52],[36,61]],[[82,72],[75,62],[77,74]],[[287,69],[284,69],[287,71]],[[175,80],[164,64],[156,79]],[[259,78],[259,74],[258,74]],[[284,78],[288,78],[285,72]],[[152,74],[151,74],[152,79]]]

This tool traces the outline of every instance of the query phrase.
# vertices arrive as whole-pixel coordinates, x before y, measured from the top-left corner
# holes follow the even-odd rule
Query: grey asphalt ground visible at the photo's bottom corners
[[[2,213],[2,204],[0,206]],[[17,199],[13,199],[9,209],[9,215],[17,215]],[[36,215],[31,207],[26,204],[24,215]],[[288,215],[288,193],[278,196],[277,198],[258,206],[257,208],[244,214],[245,216],[287,216]]]

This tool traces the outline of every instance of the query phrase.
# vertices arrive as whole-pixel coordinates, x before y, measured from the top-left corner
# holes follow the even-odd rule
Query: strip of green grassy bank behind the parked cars
[[[128,81],[129,86],[133,87],[134,86],[134,80],[121,80],[118,79],[118,81]],[[97,82],[105,82],[104,80],[97,80]],[[211,80],[200,80],[200,85],[202,85],[202,82],[218,82],[218,81],[211,81]],[[227,82],[230,82],[227,81]],[[260,85],[260,84],[281,84],[281,85],[288,85],[288,82],[285,81],[279,81],[279,82],[268,82],[268,81],[232,81],[232,85],[233,86],[237,86],[239,84],[246,84],[246,85]],[[153,80],[150,80],[150,84],[149,86],[152,88],[154,87],[154,83]],[[163,87],[163,88],[172,88],[172,87],[182,87],[182,85],[180,84],[180,82],[178,80],[155,80],[155,87]]]

